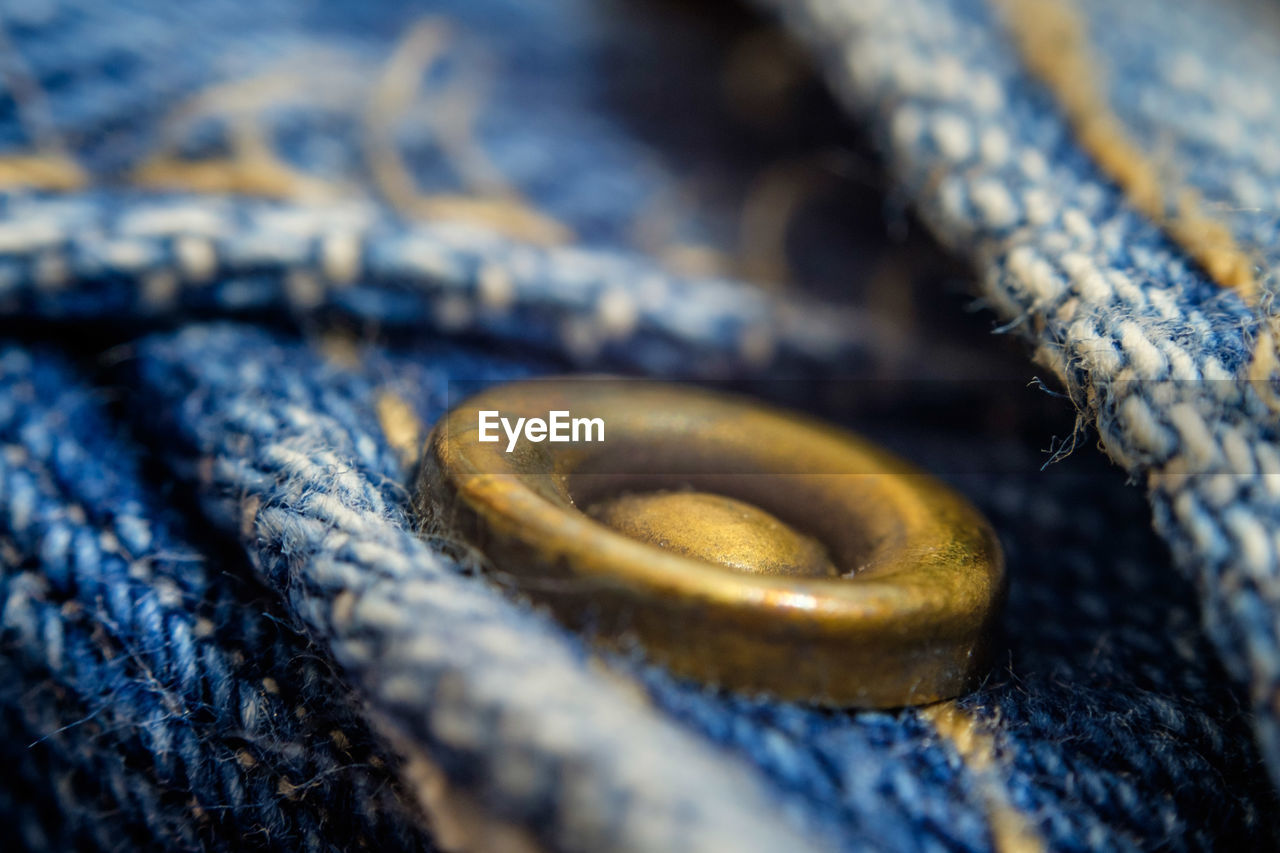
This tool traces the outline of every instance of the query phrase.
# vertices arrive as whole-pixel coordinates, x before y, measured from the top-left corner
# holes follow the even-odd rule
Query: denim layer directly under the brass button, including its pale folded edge
[[[232,357],[246,352],[255,355]],[[1012,663],[965,701],[998,721],[995,749],[1004,766],[986,779],[957,761],[916,711],[840,713],[750,702],[643,666],[635,678],[657,707],[636,707],[608,684],[575,689],[568,674],[557,674],[563,663],[554,652],[576,649],[573,638],[552,633],[539,642],[497,601],[484,608],[451,602],[448,574],[440,575],[448,566],[428,571],[430,546],[371,525],[398,519],[408,497],[398,484],[410,482],[411,466],[393,452],[367,401],[403,394],[430,423],[442,412],[444,378],[479,379],[476,365],[443,361],[447,370],[428,371],[424,365],[438,361],[425,353],[402,361],[371,351],[352,374],[307,348],[233,328],[188,329],[143,345],[138,359],[143,393],[160,394],[141,409],[174,412],[175,423],[160,424],[161,435],[184,439],[179,452],[188,466],[192,453],[204,460],[197,467],[206,471],[210,517],[239,530],[260,570],[288,590],[311,630],[330,638],[375,707],[415,743],[457,761],[457,776],[480,786],[480,798],[499,813],[549,821],[543,831],[556,847],[635,845],[627,834],[640,827],[628,815],[641,808],[639,797],[660,793],[681,806],[678,818],[658,804],[644,807],[645,834],[672,833],[663,849],[698,849],[703,831],[708,849],[783,849],[759,829],[728,843],[724,826],[708,826],[719,793],[744,779],[759,779],[765,802],[786,806],[800,826],[850,850],[986,849],[988,786],[997,789],[989,795],[1034,816],[1053,848],[1196,848],[1268,838],[1270,790],[1239,704],[1196,628],[1194,598],[1149,571],[1165,557],[1143,530],[1147,514],[1102,473],[960,479],[1024,567],[1007,622]],[[934,465],[959,441],[952,435],[936,451]],[[347,471],[349,482],[335,482],[333,470]],[[374,487],[379,498],[369,496]],[[1028,501],[1037,491],[1047,494]],[[1062,508],[1082,503],[1093,506]],[[1103,537],[1110,547],[1100,551]],[[412,580],[419,574],[431,579],[434,593],[415,592],[424,583]],[[1142,622],[1123,617],[1134,599],[1152,605],[1139,611]],[[451,613],[460,611],[470,628],[454,626]],[[483,644],[472,649],[472,638]],[[452,648],[440,657],[445,642]],[[589,667],[580,651],[571,654]],[[454,671],[458,662],[463,667]],[[486,692],[493,679],[500,688]],[[429,717],[424,707],[433,710]],[[704,765],[687,744],[659,752],[645,738],[671,725],[667,715],[736,754]],[[573,743],[548,742],[544,726],[568,726]],[[570,757],[572,770],[564,767]],[[547,774],[561,788],[511,786],[504,774],[515,761],[529,765],[520,781]],[[751,765],[759,771],[746,772]],[[622,788],[616,774],[626,767],[663,779],[662,790],[641,779],[639,792],[608,795]],[[1229,798],[1224,777],[1242,785],[1240,799]],[[681,793],[678,785],[690,783],[696,793]],[[737,812],[746,797],[737,790],[719,806]],[[760,806],[750,808],[759,816]],[[735,822],[745,820],[740,813]],[[588,827],[600,835],[585,835]]]

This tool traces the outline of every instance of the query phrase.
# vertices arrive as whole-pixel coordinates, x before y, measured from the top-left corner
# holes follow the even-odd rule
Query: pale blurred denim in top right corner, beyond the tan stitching
[[[1280,263],[1280,13],[1266,3],[1084,3],[1107,102],[1171,182],[1194,188],[1251,255]]]

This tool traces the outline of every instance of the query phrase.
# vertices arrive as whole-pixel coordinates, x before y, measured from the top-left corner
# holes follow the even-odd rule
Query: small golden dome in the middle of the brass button
[[[764,510],[710,492],[643,492],[588,515],[639,542],[754,575],[838,578],[817,539]]]

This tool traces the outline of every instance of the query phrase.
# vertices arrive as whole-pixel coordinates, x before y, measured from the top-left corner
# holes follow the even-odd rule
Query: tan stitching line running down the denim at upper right
[[[1245,300],[1258,296],[1249,256],[1199,193],[1169,191],[1155,165],[1111,113],[1084,27],[1069,0],[996,0],[1027,67],[1052,90],[1080,145],[1138,210],[1161,224],[1210,277]]]

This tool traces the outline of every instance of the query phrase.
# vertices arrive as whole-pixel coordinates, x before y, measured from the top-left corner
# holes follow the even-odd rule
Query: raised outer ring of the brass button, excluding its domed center
[[[567,409],[604,416],[608,433],[596,447],[541,443],[504,453],[466,441],[481,409]],[[773,441],[750,443],[750,434]],[[873,483],[888,496],[856,517],[874,519],[901,540],[854,576],[829,580],[732,573],[635,540],[580,511],[570,482],[585,460],[609,452],[611,438],[626,446],[646,435],[695,446],[707,437],[737,441],[740,452],[764,455],[753,464],[780,444],[792,452],[838,447],[846,471],[872,475],[859,482],[864,496]],[[787,460],[768,465],[774,462],[785,467]],[[431,432],[416,505],[428,534],[479,548],[493,578],[595,642],[643,651],[708,684],[824,706],[897,707],[965,692],[984,672],[1005,593],[991,526],[932,476],[804,415],[652,380],[534,379],[470,397]]]

